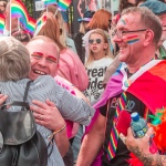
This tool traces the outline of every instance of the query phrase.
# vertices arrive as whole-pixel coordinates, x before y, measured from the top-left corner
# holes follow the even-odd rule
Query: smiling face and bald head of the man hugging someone
[[[59,50],[55,43],[46,40],[34,40],[27,44],[31,55],[29,77],[35,80],[40,75],[55,76],[59,62]]]

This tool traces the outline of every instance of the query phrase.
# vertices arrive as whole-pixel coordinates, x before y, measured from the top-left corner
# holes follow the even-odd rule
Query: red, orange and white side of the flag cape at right
[[[128,87],[124,86],[124,90],[139,98],[153,114],[157,108],[166,107],[165,69],[166,61],[153,60],[128,79]]]

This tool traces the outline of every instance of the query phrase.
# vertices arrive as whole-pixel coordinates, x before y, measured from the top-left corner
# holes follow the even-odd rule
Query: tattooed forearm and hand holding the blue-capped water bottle
[[[166,166],[165,155],[149,153],[151,135],[153,135],[153,128],[149,128],[143,138],[134,138],[132,129],[128,128],[126,146],[145,166]]]

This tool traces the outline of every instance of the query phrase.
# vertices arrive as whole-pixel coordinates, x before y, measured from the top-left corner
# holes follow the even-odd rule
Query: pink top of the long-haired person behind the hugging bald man
[[[80,91],[86,90],[89,85],[89,76],[85,66],[81,62],[79,55],[70,49],[64,49],[60,52],[58,75],[70,81]]]

